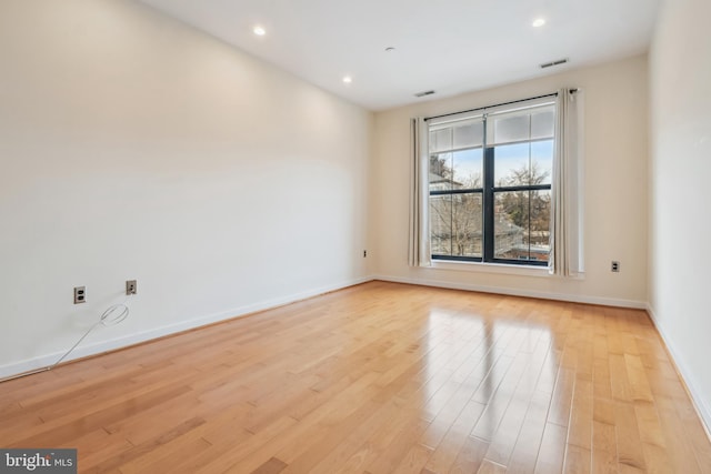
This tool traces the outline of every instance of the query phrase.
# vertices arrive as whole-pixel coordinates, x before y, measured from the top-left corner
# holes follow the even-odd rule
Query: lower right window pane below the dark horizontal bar
[[[494,201],[494,258],[548,262],[550,191],[498,192]]]

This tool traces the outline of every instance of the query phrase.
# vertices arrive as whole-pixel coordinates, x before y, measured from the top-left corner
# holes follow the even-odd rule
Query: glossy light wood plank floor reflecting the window
[[[371,282],[0,384],[80,472],[711,473],[642,311]]]

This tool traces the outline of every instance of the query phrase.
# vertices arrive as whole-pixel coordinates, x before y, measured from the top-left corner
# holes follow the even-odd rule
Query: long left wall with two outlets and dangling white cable
[[[3,0],[0,68],[0,376],[128,279],[77,355],[368,274],[370,112],[130,1]]]

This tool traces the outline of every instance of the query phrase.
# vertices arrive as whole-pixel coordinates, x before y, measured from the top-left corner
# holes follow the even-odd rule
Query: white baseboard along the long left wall
[[[248,314],[251,314],[258,311],[264,311],[264,310],[273,309],[277,306],[282,306],[284,304],[294,303],[297,301],[306,300],[312,296],[318,296],[320,294],[329,293],[331,291],[342,290],[348,286],[365,283],[370,280],[372,279],[369,276],[348,280],[338,284],[320,286],[312,290],[293,293],[288,296],[281,296],[281,297],[276,297],[267,301],[261,301],[258,303],[236,307],[229,311],[222,311],[220,313],[209,314],[209,315],[196,317],[193,320],[182,321],[176,324],[154,327],[148,331],[142,331],[142,332],[130,334],[130,335],[99,341],[96,343],[88,343],[86,345],[78,346],[70,354],[70,356],[67,357],[67,361],[87,357],[90,355],[97,355],[108,351],[116,351],[118,349],[128,347],[130,345],[151,341],[151,340],[170,335],[170,334],[176,334],[182,331],[192,330],[192,329],[204,326],[208,324],[246,316]],[[56,353],[46,354],[46,355],[2,365],[0,366],[0,381],[3,379],[11,379],[13,376],[24,374],[27,372],[41,371],[54,364],[59,360],[59,357],[61,357],[64,354],[64,352],[66,351],[56,352]]]

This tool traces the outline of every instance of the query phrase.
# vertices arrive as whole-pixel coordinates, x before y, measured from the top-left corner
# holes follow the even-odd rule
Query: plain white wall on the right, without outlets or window
[[[711,426],[708,0],[667,1],[650,53],[650,313]]]

